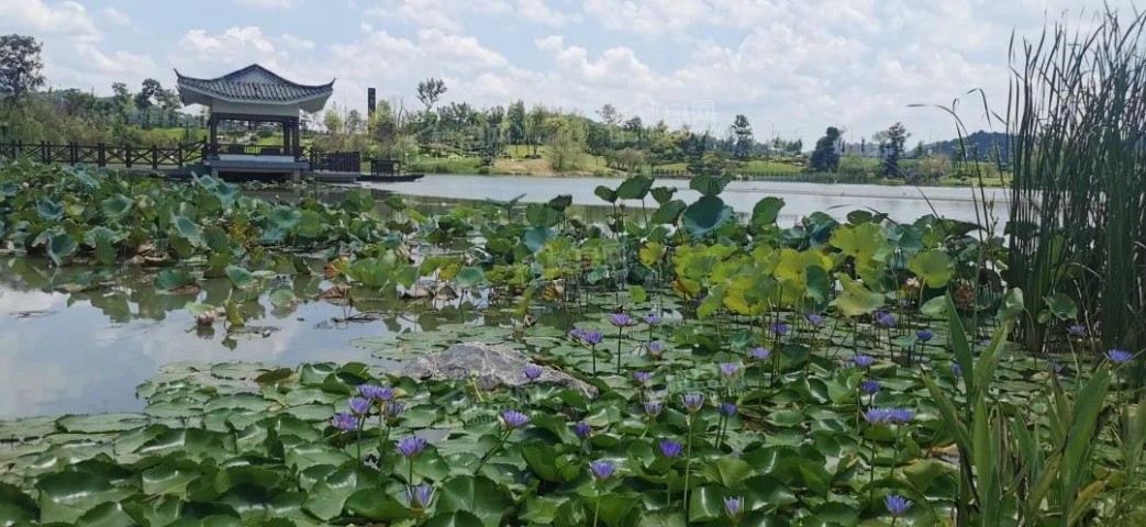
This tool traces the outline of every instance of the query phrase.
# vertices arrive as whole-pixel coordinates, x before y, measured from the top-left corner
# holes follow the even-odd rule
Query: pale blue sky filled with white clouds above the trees
[[[1108,0],[1123,11],[1129,0]],[[758,140],[861,137],[902,121],[909,143],[953,136],[959,100],[988,127],[981,89],[1006,105],[1008,42],[1047,22],[1085,24],[1093,0],[0,0],[0,34],[44,45],[54,88],[110,94],[174,69],[218,77],[251,63],[335,82],[328,108],[367,87],[406,108],[417,82],[442,102],[524,100],[723,135],[737,113]],[[972,93],[972,94],[968,94]],[[925,107],[919,107],[920,104]],[[996,126],[997,129],[997,126]]]

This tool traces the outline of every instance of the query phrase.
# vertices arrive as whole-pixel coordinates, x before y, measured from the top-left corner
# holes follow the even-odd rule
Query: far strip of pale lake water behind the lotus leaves
[[[594,195],[594,189],[599,184],[617,188],[621,181],[609,178],[431,174],[409,183],[364,184],[410,196],[453,199],[492,198],[507,200],[524,194],[523,202],[548,202],[557,195],[567,194],[573,196],[573,203],[578,205],[607,205]],[[676,197],[688,203],[700,196],[698,192],[689,190],[689,182],[685,180],[658,180],[654,186],[682,189],[676,192]],[[992,217],[996,220],[1005,219],[1007,215],[1007,191],[984,189],[983,192],[989,202],[994,202]],[[782,225],[791,225],[816,211],[843,218],[856,209],[884,212],[896,221],[915,221],[932,213],[956,220],[975,221],[975,202],[980,198],[980,190],[970,187],[888,187],[733,181],[721,194],[724,203],[743,213],[751,213],[756,202],[766,196],[784,198],[785,206],[780,211],[779,220]],[[641,203],[631,202],[629,205],[638,207]],[[646,206],[656,207],[656,202],[650,197],[646,200]]]

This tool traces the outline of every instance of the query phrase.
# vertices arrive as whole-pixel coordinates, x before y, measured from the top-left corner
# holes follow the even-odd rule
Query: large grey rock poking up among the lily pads
[[[455,344],[441,353],[424,355],[408,363],[400,375],[423,380],[469,382],[477,373],[478,386],[492,390],[499,386],[519,387],[529,384],[523,370],[533,363],[520,352],[480,343]],[[541,367],[542,373],[533,383],[548,383],[578,390],[589,398],[597,396],[597,388],[556,368]]]

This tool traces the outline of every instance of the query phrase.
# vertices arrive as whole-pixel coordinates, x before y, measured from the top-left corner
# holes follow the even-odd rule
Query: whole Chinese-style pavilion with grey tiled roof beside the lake
[[[311,168],[299,140],[299,112],[322,110],[333,93],[332,80],[324,85],[300,85],[258,64],[214,79],[185,77],[178,70],[175,76],[183,104],[202,104],[210,111],[211,137],[203,165],[212,175],[258,173],[297,180]],[[281,124],[283,142],[220,144],[219,123],[225,120]]]

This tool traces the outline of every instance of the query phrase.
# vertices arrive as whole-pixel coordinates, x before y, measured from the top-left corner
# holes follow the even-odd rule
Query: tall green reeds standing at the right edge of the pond
[[[1146,15],[1107,9],[1081,25],[1086,29],[1060,22],[1037,40],[1012,39],[1007,278],[1026,292],[1029,316],[1019,331],[1028,348],[1046,349],[1061,335],[1047,299],[1065,294],[1102,349],[1139,351],[1146,330]],[[1137,371],[1146,384],[1146,363]]]

